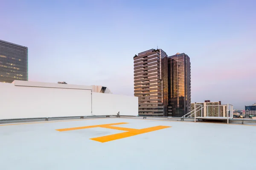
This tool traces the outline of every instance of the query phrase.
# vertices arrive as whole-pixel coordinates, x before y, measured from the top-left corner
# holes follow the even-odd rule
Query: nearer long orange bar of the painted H
[[[155,130],[165,129],[165,128],[169,128],[169,127],[171,127],[171,126],[155,126],[155,127],[144,128],[144,129],[134,129],[134,130],[128,131],[128,132],[117,133],[117,134],[108,135],[108,136],[101,136],[101,137],[97,137],[97,138],[91,138],[91,140],[104,143],[104,142],[110,142],[113,140],[127,138],[127,137],[131,137],[131,136],[135,136],[135,135],[139,135],[139,134],[143,134],[143,133],[152,132]]]

